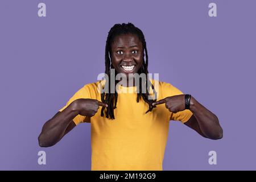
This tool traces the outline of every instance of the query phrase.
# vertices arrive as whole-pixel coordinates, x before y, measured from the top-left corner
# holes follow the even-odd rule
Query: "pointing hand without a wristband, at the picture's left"
[[[75,101],[76,110],[79,111],[80,115],[87,117],[92,117],[95,115],[100,106],[108,107],[107,104],[90,98],[80,98]]]

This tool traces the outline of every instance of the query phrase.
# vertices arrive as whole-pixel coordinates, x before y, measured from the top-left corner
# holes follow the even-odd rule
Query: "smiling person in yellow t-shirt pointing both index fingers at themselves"
[[[131,23],[115,24],[106,40],[105,74],[110,77],[114,69],[130,81],[134,77],[129,73],[147,75],[147,66],[142,31]],[[148,81],[156,95],[152,100],[150,92],[141,89]],[[158,82],[155,90],[155,81],[146,76],[139,87],[118,86],[121,90],[134,88],[133,92],[112,93],[109,87],[109,92],[100,93],[100,82],[83,86],[44,124],[38,138],[41,147],[53,146],[79,123],[90,122],[92,170],[162,170],[169,121],[181,121],[205,138],[222,138],[216,115],[169,83]]]

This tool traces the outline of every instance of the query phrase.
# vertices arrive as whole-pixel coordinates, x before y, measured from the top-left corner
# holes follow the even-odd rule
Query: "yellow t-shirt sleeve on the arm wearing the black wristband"
[[[176,96],[176,95],[180,95],[183,94],[183,92],[181,92],[179,89],[177,89],[175,86],[168,84],[167,85],[167,90],[168,90],[168,96]],[[168,97],[167,96],[167,97]],[[188,121],[189,118],[191,118],[191,116],[193,115],[193,113],[188,110],[185,109],[183,111],[179,111],[177,113],[170,113],[170,120],[174,120],[174,121],[181,121],[182,123],[185,123]]]

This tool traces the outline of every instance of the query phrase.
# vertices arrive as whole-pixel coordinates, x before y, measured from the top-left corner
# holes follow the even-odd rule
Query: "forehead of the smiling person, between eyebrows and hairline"
[[[138,46],[142,47],[142,42],[135,34],[122,34],[114,38],[112,47]]]

